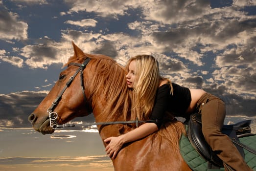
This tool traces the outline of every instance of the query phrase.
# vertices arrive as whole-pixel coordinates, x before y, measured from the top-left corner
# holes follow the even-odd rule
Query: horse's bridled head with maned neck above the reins
[[[43,134],[53,133],[54,124],[86,116],[92,109],[96,122],[131,119],[124,68],[110,57],[85,54],[74,43],[73,48],[67,69],[28,117],[33,128]]]

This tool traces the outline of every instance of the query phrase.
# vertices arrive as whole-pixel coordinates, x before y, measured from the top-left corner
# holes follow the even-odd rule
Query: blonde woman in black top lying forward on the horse
[[[213,151],[233,170],[252,171],[235,148],[230,138],[221,133],[226,115],[224,102],[202,89],[190,89],[171,83],[160,76],[157,60],[149,55],[138,55],[126,64],[126,80],[133,89],[133,109],[140,120],[162,120],[165,111],[189,118],[195,112],[202,114],[202,131]],[[104,141],[107,155],[115,159],[123,144],[141,139],[161,127],[160,123],[145,123],[118,137]],[[226,168],[226,170],[228,170]]]

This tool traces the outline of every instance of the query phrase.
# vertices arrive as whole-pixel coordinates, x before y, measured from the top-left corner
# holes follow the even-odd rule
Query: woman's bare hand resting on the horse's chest
[[[109,137],[104,140],[105,143],[109,142],[105,151],[107,151],[107,155],[109,157],[112,157],[112,159],[116,158],[118,151],[123,146],[121,139],[122,139],[121,136],[118,136],[118,137]]]

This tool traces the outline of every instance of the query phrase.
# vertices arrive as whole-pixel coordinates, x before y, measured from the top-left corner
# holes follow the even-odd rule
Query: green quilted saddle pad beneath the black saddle
[[[187,126],[186,126],[187,130]],[[239,138],[240,142],[255,149],[256,147],[256,135],[242,137]],[[193,171],[225,171],[224,168],[220,170],[208,170],[208,163],[207,161],[199,155],[199,153],[193,148],[191,143],[189,142],[188,138],[185,135],[182,135],[180,140],[180,151],[181,155],[183,156],[184,160],[188,164],[188,166]],[[254,171],[256,171],[256,155],[245,150],[245,162],[251,167]]]

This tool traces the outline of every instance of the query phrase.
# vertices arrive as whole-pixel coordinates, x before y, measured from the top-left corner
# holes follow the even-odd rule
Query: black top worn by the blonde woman
[[[170,94],[170,85],[162,85],[157,89],[155,104],[150,119],[159,120],[158,127],[165,111],[169,111],[174,116],[187,117],[185,112],[191,103],[190,90],[186,87],[172,83],[173,95]]]

